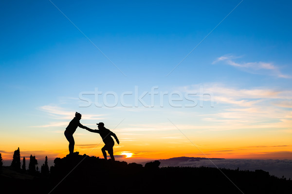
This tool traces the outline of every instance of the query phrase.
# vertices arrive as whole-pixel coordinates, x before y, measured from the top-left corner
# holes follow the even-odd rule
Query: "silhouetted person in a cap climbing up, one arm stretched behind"
[[[96,124],[98,126],[98,129],[86,129],[90,132],[93,132],[93,133],[99,133],[101,138],[102,138],[102,141],[105,143],[105,146],[103,146],[103,148],[101,148],[101,151],[102,151],[102,154],[104,155],[104,158],[105,160],[107,160],[107,152],[106,150],[109,152],[110,154],[110,158],[112,161],[114,161],[114,157],[113,157],[113,146],[114,146],[114,141],[113,139],[111,138],[111,136],[114,137],[114,139],[116,140],[116,142],[118,144],[120,144],[116,134],[114,134],[113,132],[110,131],[110,129],[107,129],[105,128],[105,124],[104,123],[97,123]]]

